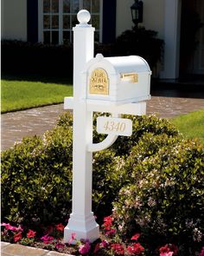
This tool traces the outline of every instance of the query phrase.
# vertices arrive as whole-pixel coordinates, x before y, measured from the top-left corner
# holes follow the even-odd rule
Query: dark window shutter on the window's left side
[[[27,0],[28,42],[38,42],[38,0]]]

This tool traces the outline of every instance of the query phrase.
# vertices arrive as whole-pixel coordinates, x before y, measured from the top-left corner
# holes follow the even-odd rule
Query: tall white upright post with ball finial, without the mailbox
[[[87,109],[82,92],[81,72],[93,57],[94,28],[87,24],[91,18],[87,10],[77,15],[80,24],[73,28],[73,209],[64,230],[65,242],[71,239],[99,238],[99,225],[92,213],[92,111]],[[74,241],[73,241],[74,243]]]

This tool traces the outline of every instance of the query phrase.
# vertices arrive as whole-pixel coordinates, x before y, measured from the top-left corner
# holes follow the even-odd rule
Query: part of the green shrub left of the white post
[[[72,131],[24,139],[2,153],[2,215],[20,223],[57,222],[70,213]]]

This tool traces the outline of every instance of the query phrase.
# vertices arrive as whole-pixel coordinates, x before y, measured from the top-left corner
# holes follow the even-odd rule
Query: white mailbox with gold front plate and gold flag
[[[90,102],[120,105],[150,100],[150,66],[140,56],[98,54],[86,63],[83,75],[83,98]]]

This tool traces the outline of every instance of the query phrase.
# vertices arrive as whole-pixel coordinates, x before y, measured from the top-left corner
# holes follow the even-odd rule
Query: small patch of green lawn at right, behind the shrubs
[[[175,127],[188,138],[198,138],[204,145],[204,109],[171,119]]]

